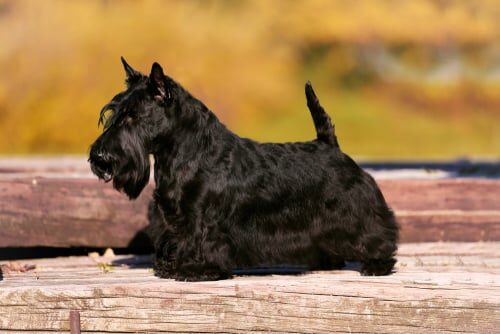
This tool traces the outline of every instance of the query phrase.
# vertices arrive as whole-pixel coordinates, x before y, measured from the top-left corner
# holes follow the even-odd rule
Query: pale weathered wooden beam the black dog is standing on
[[[68,333],[78,310],[84,333],[499,333],[500,243],[404,244],[398,260],[387,277],[202,283],[158,279],[147,257],[26,260],[0,281],[0,332]]]

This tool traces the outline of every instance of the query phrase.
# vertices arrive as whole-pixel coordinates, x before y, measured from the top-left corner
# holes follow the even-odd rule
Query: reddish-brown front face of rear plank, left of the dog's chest
[[[93,179],[0,179],[0,247],[126,247],[147,225],[150,196],[129,201]]]

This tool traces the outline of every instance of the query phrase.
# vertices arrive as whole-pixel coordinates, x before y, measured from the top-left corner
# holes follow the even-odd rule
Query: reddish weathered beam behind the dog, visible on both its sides
[[[83,159],[82,159],[83,160]],[[128,201],[85,161],[0,164],[0,247],[127,247],[147,226],[152,185]],[[500,240],[500,180],[378,180],[401,241]]]

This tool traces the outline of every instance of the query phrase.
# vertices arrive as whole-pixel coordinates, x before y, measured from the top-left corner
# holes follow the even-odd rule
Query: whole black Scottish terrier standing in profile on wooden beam
[[[154,63],[145,76],[122,58],[127,90],[104,106],[92,171],[134,199],[150,175],[151,237],[160,277],[217,280],[235,268],[305,265],[390,274],[398,227],[375,181],[342,153],[306,84],[317,139],[257,143],[228,130]],[[108,117],[107,111],[110,111]]]

